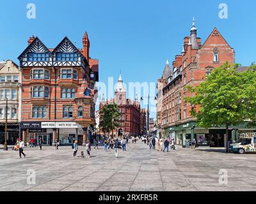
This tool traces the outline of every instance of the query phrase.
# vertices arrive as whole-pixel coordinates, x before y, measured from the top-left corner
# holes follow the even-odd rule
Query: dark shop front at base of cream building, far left
[[[9,123],[7,125],[7,144],[15,145],[17,138],[19,138],[19,124]],[[0,144],[5,142],[5,124],[0,124]]]

